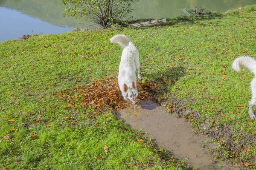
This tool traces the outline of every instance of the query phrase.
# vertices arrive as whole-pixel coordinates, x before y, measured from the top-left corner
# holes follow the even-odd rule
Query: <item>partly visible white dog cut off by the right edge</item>
[[[256,105],[256,60],[248,56],[238,57],[234,60],[232,68],[235,71],[241,71],[240,67],[246,67],[254,73],[254,78],[251,81],[252,100],[249,101],[249,115],[251,119],[256,119],[253,113],[253,106]]]

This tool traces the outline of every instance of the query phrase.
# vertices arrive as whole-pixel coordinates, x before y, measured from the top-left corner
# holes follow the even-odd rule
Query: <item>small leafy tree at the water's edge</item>
[[[61,0],[65,5],[64,16],[83,18],[103,28],[111,27],[133,10],[138,0]]]

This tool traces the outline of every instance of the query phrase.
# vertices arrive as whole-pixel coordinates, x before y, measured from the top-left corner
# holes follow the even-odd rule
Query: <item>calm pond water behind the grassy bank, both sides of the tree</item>
[[[61,0],[0,0],[0,42],[27,34],[58,34],[88,26],[74,17],[63,17]],[[139,0],[133,18],[172,18],[184,15],[181,9],[195,6],[208,11],[227,11],[256,4],[256,0]],[[80,24],[82,23],[82,25]]]

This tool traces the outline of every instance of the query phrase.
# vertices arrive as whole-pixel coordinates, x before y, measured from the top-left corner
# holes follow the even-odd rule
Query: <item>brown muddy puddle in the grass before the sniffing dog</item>
[[[211,139],[204,135],[196,135],[189,122],[168,114],[163,106],[152,101],[141,102],[136,108],[130,107],[119,111],[118,116],[131,125],[148,134],[159,146],[169,149],[176,158],[183,159],[198,170],[232,170],[230,164],[217,161],[210,155],[209,148],[218,145],[210,144],[202,147]]]

